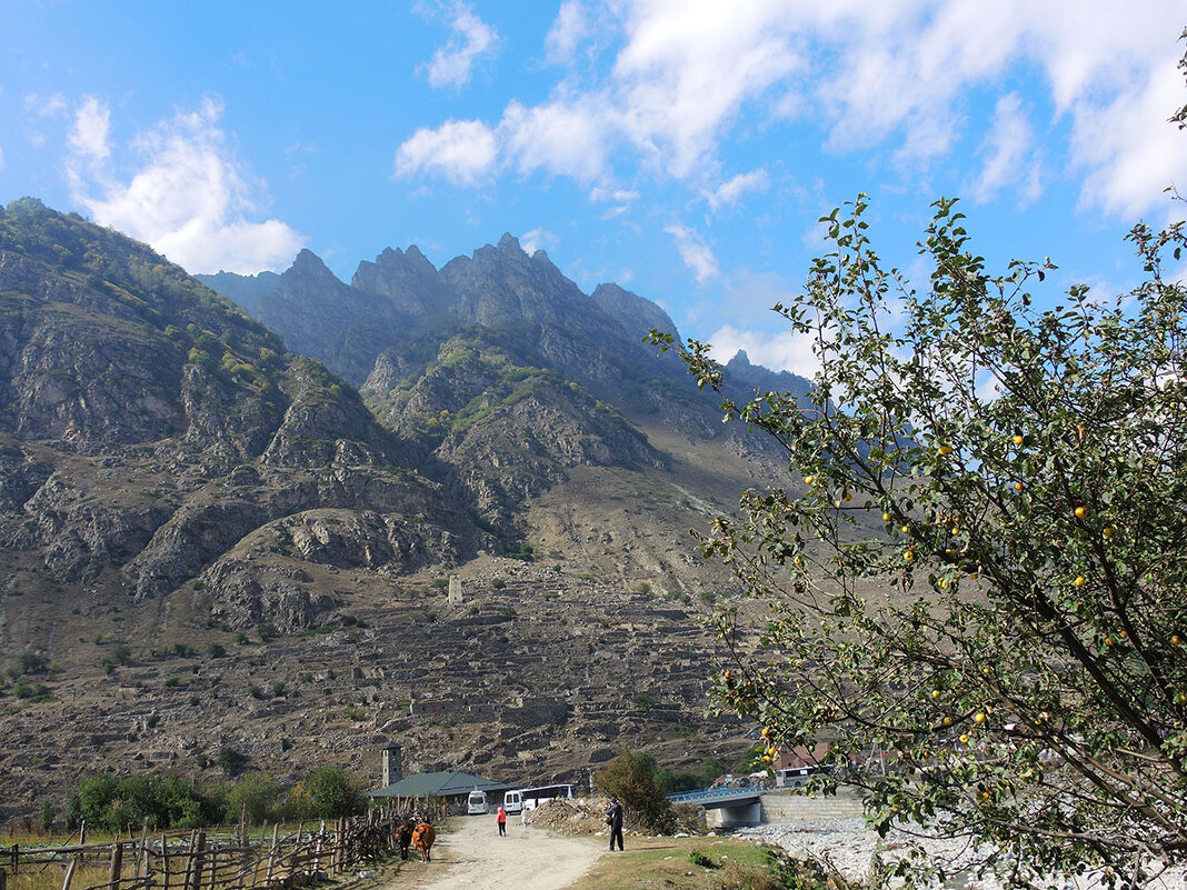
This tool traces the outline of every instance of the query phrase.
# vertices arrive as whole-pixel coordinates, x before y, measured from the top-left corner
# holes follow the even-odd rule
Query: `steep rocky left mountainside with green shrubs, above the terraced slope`
[[[278,311],[357,297],[312,254],[291,273]],[[269,523],[332,509],[357,540],[315,546],[315,523],[285,552],[389,572],[480,546],[349,384],[145,246],[38,202],[0,216],[0,543],[64,580],[118,570],[140,602],[210,572],[226,614],[280,604],[297,627],[332,604],[248,583],[231,557]]]

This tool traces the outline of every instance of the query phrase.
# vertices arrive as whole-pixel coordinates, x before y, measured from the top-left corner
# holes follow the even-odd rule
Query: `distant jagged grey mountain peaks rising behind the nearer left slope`
[[[642,342],[650,329],[679,337],[662,309],[614,284],[586,295],[544,250],[529,256],[509,234],[439,271],[415,246],[388,248],[361,262],[350,285],[306,250],[273,290],[260,288],[261,320],[361,384],[423,465],[461,479],[504,529],[515,504],[577,465],[668,465],[647,444],[656,424],[729,440],[735,453],[769,451],[757,437],[723,430],[675,356]],[[807,390],[744,354],[726,365],[726,381],[740,396]],[[515,407],[521,399],[529,403]],[[558,425],[559,417],[567,420]]]

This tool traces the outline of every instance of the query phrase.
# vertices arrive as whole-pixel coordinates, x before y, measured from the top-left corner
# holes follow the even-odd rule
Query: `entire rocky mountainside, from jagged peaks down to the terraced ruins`
[[[399,738],[410,768],[508,781],[579,781],[622,745],[667,765],[747,746],[704,717],[693,616],[726,581],[685,533],[770,466],[607,311],[650,304],[510,248],[450,272],[502,328],[451,322],[411,248],[387,259],[411,255],[427,297],[393,304],[419,333],[382,343],[364,402],[144,244],[9,204],[0,661],[47,667],[0,679],[0,816],[97,769],[215,781],[223,746],[281,777],[367,775]],[[301,290],[318,266],[293,305],[341,293]],[[370,298],[342,295],[366,320]]]

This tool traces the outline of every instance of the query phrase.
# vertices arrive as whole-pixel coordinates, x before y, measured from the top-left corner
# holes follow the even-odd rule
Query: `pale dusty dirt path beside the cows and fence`
[[[561,890],[605,852],[596,838],[561,838],[542,828],[507,820],[499,837],[495,816],[455,819],[453,831],[438,837],[433,860],[415,872],[415,890]],[[405,890],[398,881],[381,890]]]

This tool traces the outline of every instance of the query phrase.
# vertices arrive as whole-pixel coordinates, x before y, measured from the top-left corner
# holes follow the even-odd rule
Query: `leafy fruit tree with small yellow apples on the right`
[[[719,700],[770,758],[833,740],[820,781],[864,786],[883,833],[965,838],[1008,885],[1141,883],[1187,860],[1185,231],[1132,230],[1130,293],[1040,309],[1049,261],[991,273],[956,202],[919,290],[865,210],[821,221],[775,307],[814,344],[808,402],[736,400],[707,345],[650,335],[788,460],[702,538],[766,606],[716,618]]]

